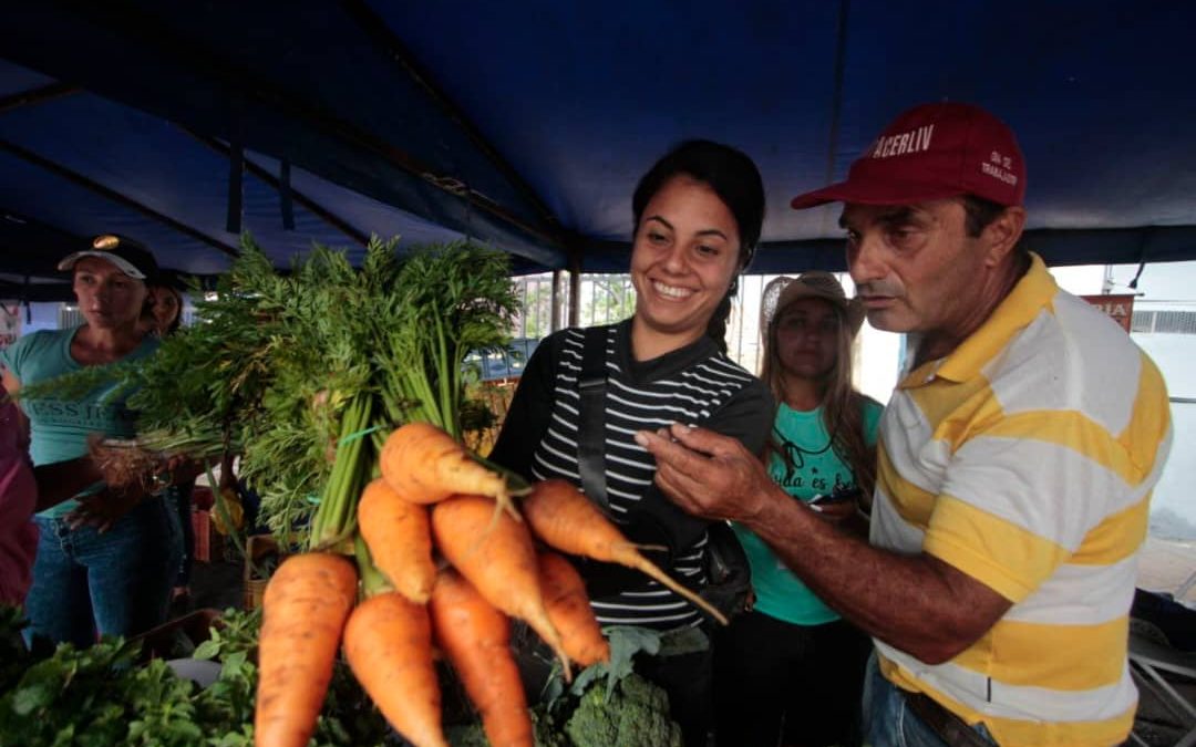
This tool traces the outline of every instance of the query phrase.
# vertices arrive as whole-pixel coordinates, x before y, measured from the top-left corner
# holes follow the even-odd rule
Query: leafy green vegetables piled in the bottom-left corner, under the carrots
[[[205,690],[161,660],[140,662],[136,643],[105,638],[78,650],[60,645],[38,657],[14,651],[0,680],[0,746],[251,747],[261,616],[226,610],[197,659],[220,661]],[[23,625],[0,610],[0,641]],[[399,743],[348,668],[337,665],[315,735],[316,747]]]

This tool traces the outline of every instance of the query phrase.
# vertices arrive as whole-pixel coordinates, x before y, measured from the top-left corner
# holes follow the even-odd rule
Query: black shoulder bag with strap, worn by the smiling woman
[[[605,408],[606,408],[606,335],[604,327],[586,330],[581,356],[579,390],[581,394],[581,422],[578,433],[578,471],[586,497],[609,515],[605,466]],[[651,491],[649,491],[651,492]],[[732,618],[749,608],[751,598],[751,569],[748,555],[739,538],[725,521],[707,522],[690,516],[660,496],[659,506],[646,501],[633,512],[634,523],[641,532],[628,532],[628,539],[637,544],[664,545],[669,557],[658,565],[669,567],[672,556],[707,534],[706,577],[703,587],[694,588],[702,599],[719,612]],[[653,553],[648,553],[653,555]],[[605,565],[605,564],[594,564]],[[592,596],[604,596],[626,586],[628,569],[593,568],[582,573],[587,590]],[[689,586],[689,584],[687,584]]]

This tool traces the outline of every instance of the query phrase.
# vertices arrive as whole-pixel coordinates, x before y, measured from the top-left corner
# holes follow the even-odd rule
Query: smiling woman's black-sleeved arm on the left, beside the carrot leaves
[[[536,447],[553,417],[553,402],[556,399],[553,391],[556,378],[553,348],[556,339],[553,336],[536,345],[515,385],[494,448],[487,455],[488,460],[525,479],[531,479]]]

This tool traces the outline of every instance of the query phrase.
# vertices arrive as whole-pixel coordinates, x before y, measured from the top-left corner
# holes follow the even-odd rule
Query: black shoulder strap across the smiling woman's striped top
[[[581,412],[578,420],[578,471],[581,490],[604,512],[606,498],[606,327],[586,329],[581,353]]]

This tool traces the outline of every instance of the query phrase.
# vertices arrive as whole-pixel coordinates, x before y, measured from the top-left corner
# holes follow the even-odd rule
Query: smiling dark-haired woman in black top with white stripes
[[[631,436],[683,422],[763,448],[770,397],[727,357],[725,339],[731,296],[759,238],[763,186],[739,151],[692,141],[643,176],[631,209],[634,316],[541,343],[489,458],[527,478],[581,486],[633,541],[666,549],[653,559],[670,575],[702,590],[712,523],[659,492],[655,461]],[[702,623],[688,601],[647,577],[603,563],[580,570],[603,625],[672,631]],[[669,692],[687,743],[704,745],[710,651],[645,667],[641,673]]]

